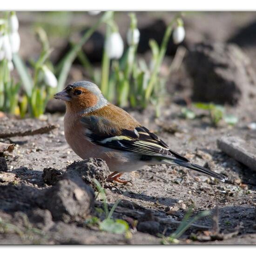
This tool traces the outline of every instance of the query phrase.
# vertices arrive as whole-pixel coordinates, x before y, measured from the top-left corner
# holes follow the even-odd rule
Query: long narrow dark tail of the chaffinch
[[[181,161],[181,160],[168,160],[168,159],[165,159],[164,162],[168,162],[170,164],[179,165],[179,166],[182,166],[182,167],[186,167],[186,168],[201,172],[203,174],[206,174],[206,175],[214,177],[218,180],[221,180],[222,182],[225,182],[228,179],[226,176],[224,176],[222,174],[218,174],[216,172],[213,172],[213,171],[211,171],[207,168],[204,168],[204,167],[202,167],[198,164],[195,164],[195,163],[184,162],[184,161]]]

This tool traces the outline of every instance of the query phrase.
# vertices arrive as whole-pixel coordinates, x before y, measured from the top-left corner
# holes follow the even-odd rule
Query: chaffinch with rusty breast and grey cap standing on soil
[[[146,165],[172,164],[189,168],[225,182],[227,177],[191,162],[176,153],[122,108],[107,101],[100,88],[89,81],[67,85],[54,98],[65,101],[64,134],[82,159],[101,158],[111,174],[108,182],[127,184],[125,172]]]

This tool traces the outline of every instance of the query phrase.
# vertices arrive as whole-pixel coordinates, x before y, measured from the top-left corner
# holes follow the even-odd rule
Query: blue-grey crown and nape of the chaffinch
[[[97,101],[96,105],[83,110],[82,111],[83,114],[87,114],[87,113],[90,113],[92,111],[98,110],[98,109],[103,108],[103,107],[105,107],[109,104],[109,102],[102,95],[100,88],[98,88],[98,86],[96,84],[92,83],[92,82],[78,81],[78,82],[72,83],[70,86],[73,87],[73,88],[83,87],[83,88],[87,89],[88,91],[92,92],[94,95],[96,95],[98,97],[98,101]]]

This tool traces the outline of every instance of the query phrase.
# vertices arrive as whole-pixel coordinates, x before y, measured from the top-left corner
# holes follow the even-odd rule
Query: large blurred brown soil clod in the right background
[[[234,44],[195,44],[184,59],[193,79],[193,100],[236,105],[255,97],[256,74]]]

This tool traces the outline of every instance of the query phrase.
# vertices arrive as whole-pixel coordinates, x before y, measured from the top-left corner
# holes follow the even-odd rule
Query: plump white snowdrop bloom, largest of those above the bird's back
[[[106,52],[110,59],[120,59],[123,54],[123,40],[118,32],[109,35],[106,41]]]

